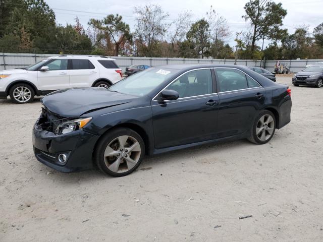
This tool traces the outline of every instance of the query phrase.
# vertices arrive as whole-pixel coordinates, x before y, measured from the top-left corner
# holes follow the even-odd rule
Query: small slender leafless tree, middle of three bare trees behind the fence
[[[182,41],[185,37],[191,24],[191,18],[192,13],[184,10],[184,12],[180,13],[177,19],[173,21],[172,25],[174,26],[174,30],[169,35],[172,44],[172,52],[174,51],[175,43]]]

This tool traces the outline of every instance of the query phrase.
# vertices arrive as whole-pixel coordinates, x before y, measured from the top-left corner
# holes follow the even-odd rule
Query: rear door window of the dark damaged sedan
[[[236,69],[214,69],[220,84],[220,91],[234,91],[248,88],[246,75]]]

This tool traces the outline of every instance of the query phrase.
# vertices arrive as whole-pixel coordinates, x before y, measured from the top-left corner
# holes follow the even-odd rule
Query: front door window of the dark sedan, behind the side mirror
[[[192,97],[212,93],[211,70],[191,71],[179,77],[167,87],[177,91],[179,97]]]

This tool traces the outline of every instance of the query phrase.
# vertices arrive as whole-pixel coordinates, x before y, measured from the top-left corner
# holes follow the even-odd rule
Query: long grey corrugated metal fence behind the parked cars
[[[34,54],[34,53],[2,53],[0,52],[0,70],[8,70],[22,68],[32,65],[48,56],[56,56],[57,54]],[[168,57],[128,57],[128,56],[109,56],[116,59],[116,63],[125,71],[126,67],[131,65],[172,65],[172,64],[228,64],[234,65],[234,59],[191,59],[191,58],[168,58]],[[323,62],[322,59],[302,59],[281,61],[287,64],[291,72],[299,72],[306,65]],[[269,71],[274,71],[276,61],[263,61],[251,59],[238,59],[237,65],[242,66],[261,66]]]

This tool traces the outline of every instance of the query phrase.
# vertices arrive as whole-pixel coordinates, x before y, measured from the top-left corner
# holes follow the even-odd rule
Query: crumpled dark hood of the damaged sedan
[[[78,117],[101,108],[131,102],[135,98],[104,87],[92,87],[62,89],[44,96],[41,102],[50,112],[59,116]]]

